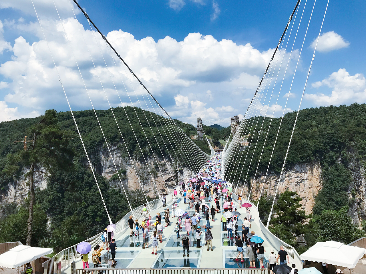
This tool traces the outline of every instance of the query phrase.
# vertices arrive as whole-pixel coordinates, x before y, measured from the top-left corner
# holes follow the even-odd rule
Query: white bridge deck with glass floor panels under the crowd
[[[235,201],[236,205],[238,205],[238,201],[236,199],[233,198],[233,200]],[[170,201],[172,201],[172,199],[170,199]],[[244,200],[244,202],[248,202],[246,200]],[[169,203],[167,203],[169,205]],[[187,204],[184,204],[183,199],[181,199],[181,201],[179,201],[178,203],[178,207],[177,208],[181,208],[183,210],[187,210]],[[222,205],[221,205],[222,206]],[[154,217],[156,215],[157,212],[162,212],[166,207],[161,207],[158,208],[157,210],[154,210],[154,212],[151,214],[152,217]],[[222,210],[221,210],[222,212]],[[240,220],[244,220],[244,216],[245,216],[245,208],[238,208],[238,212],[241,214],[241,217],[239,216]],[[263,239],[265,239],[264,241],[264,247],[266,249],[265,255],[266,257],[269,256],[269,250],[271,248],[273,248],[275,251],[276,248],[274,246],[272,246],[268,241],[266,241],[266,237],[265,235],[261,232],[261,228],[258,222],[260,222],[259,220],[259,215],[258,215],[258,211],[255,209],[255,206],[253,206],[253,209],[251,210],[251,214],[252,214],[252,220],[251,220],[251,230],[255,231],[255,233],[257,233],[258,236],[262,237]],[[120,261],[119,263],[117,263],[116,268],[130,268],[130,269],[139,269],[139,268],[154,268],[154,266],[159,265],[159,267],[162,267],[162,265],[169,265],[169,268],[171,267],[179,267],[182,268],[184,267],[197,267],[200,269],[223,269],[223,268],[242,268],[243,265],[241,263],[235,263],[234,259],[236,258],[236,255],[238,254],[238,252],[236,251],[236,247],[235,244],[232,241],[227,241],[226,235],[225,238],[223,240],[223,234],[226,233],[226,231],[222,231],[222,224],[221,224],[221,213],[217,213],[215,215],[215,221],[211,221],[210,220],[210,225],[212,226],[212,235],[213,235],[213,251],[209,250],[207,251],[206,246],[204,246],[205,241],[204,241],[204,236],[203,234],[201,235],[202,240],[201,240],[201,246],[202,248],[197,248],[196,246],[191,246],[190,247],[190,257],[188,258],[187,256],[183,258],[183,247],[179,244],[179,247],[176,246],[172,247],[172,239],[174,240],[178,240],[176,239],[176,232],[174,231],[175,228],[175,222],[177,222],[177,217],[173,217],[171,216],[171,224],[164,228],[164,232],[163,232],[163,243],[159,242],[159,248],[158,248],[158,255],[153,255],[151,254],[152,252],[152,247],[151,247],[151,239],[150,239],[150,247],[149,248],[145,248],[142,249],[142,232],[140,230],[140,235],[139,237],[135,237],[132,236],[130,237],[130,229],[126,229],[123,233],[120,233],[120,235],[118,235],[118,237],[116,237],[116,243],[117,243],[117,255],[116,255],[116,259],[117,258],[125,258],[122,260],[117,260]],[[143,218],[139,218],[139,222],[141,223],[141,221],[143,220]],[[162,219],[163,220],[163,219]],[[203,227],[203,224],[206,224],[206,221],[204,220],[204,218],[201,217],[201,226]],[[184,229],[184,227],[183,227]],[[241,233],[241,223],[239,222],[239,235],[242,235]],[[180,232],[180,235],[182,236],[182,234],[185,233]],[[150,233],[152,234],[152,233]],[[151,238],[151,237],[150,237]],[[190,236],[191,241],[195,242],[194,237],[191,235]],[[169,240],[170,239],[170,240]],[[235,238],[234,238],[235,240]],[[179,239],[180,241],[180,239]],[[225,242],[225,243],[223,243]],[[170,245],[170,247],[169,247]],[[123,246],[123,247],[120,247]],[[138,246],[138,247],[136,247]],[[128,254],[134,254],[133,256],[131,256],[131,259],[127,259],[126,258],[126,253],[123,251],[127,251]],[[164,251],[164,252],[163,252]],[[226,251],[226,263],[224,260],[225,257],[225,251]],[[229,252],[232,251],[232,252]],[[229,254],[228,254],[229,252]],[[123,254],[121,254],[123,253]],[[168,255],[165,254],[169,254],[169,261],[166,262]],[[122,256],[119,256],[122,255]],[[136,255],[137,254],[137,255]],[[234,255],[234,258],[232,258],[232,256]],[[244,253],[245,256],[245,253]],[[102,259],[108,259],[111,258],[110,253],[107,254],[107,251],[102,251],[101,254]],[[132,258],[133,257],[133,258]],[[130,258],[130,256],[128,256],[128,258]],[[160,261],[157,263],[157,259]],[[185,259],[185,260],[184,260]],[[188,260],[189,259],[189,260]],[[125,260],[126,262],[122,262],[123,260]],[[188,262],[187,262],[188,260]],[[163,261],[163,262],[161,262]],[[121,263],[122,262],[122,263]],[[102,262],[103,263],[103,262]],[[108,263],[107,261],[105,261],[105,263]],[[92,267],[92,261],[91,261],[91,255],[89,256],[89,266]],[[246,267],[248,267],[246,265]],[[258,264],[257,264],[258,267]],[[82,268],[82,262],[79,261],[76,263],[76,268]],[[62,273],[71,273],[71,268],[69,267],[68,269],[65,269]],[[267,272],[265,272],[267,273]]]

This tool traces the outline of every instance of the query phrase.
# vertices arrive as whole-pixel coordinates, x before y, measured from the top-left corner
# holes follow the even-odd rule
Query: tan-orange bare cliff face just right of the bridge
[[[283,193],[285,190],[296,191],[302,198],[302,209],[305,210],[306,214],[313,213],[315,197],[318,195],[318,192],[322,187],[321,174],[322,172],[319,162],[296,165],[291,170],[284,172],[278,193]],[[276,192],[278,180],[278,175],[269,174],[263,187],[263,193],[273,196]],[[253,184],[251,194],[252,199],[257,200],[259,198],[263,181],[264,174],[258,176],[254,183],[253,178],[251,179],[251,183]],[[238,191],[236,193],[238,193]],[[247,196],[248,193],[249,191],[247,187],[244,186],[243,196]]]

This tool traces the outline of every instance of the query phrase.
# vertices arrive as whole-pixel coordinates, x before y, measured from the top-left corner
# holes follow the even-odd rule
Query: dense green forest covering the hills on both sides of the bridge
[[[153,133],[158,142],[162,142],[156,126],[152,126],[153,133],[149,128],[146,119],[139,123],[135,111],[132,107],[126,107],[126,112],[137,135],[139,143],[143,146],[143,153],[151,155],[146,138],[143,135],[142,127],[145,129],[147,137],[153,141]],[[139,117],[143,116],[142,110],[135,108]],[[48,114],[52,114],[50,111]],[[100,117],[101,126],[104,129],[107,139],[117,145],[122,153],[126,149],[121,141],[118,128],[110,111],[97,111]],[[157,118],[156,114],[150,115],[146,112],[150,125],[154,122],[159,125],[163,119]],[[107,216],[100,203],[96,184],[86,168],[86,159],[82,151],[81,142],[75,133],[75,126],[69,112],[53,113],[57,121],[52,123],[52,138],[49,144],[44,139],[44,145],[49,147],[49,151],[56,149],[63,159],[69,157],[70,162],[53,163],[50,166],[51,176],[48,178],[48,187],[45,190],[35,191],[36,205],[34,206],[34,237],[32,243],[39,246],[52,246],[58,251],[66,246],[70,246],[87,237],[95,235],[104,228],[107,223]],[[130,152],[137,160],[141,160],[141,151],[131,130],[130,124],[123,108],[115,109],[116,118],[119,122],[123,137],[127,142]],[[140,116],[141,115],[141,116]],[[284,155],[292,131],[292,125],[296,113],[288,113],[284,116],[279,138],[275,147],[270,165],[270,172],[278,174],[283,164]],[[81,130],[86,147],[93,155],[104,145],[104,140],[100,128],[92,111],[76,111],[79,129]],[[153,117],[153,118],[152,118]],[[151,120],[150,120],[151,118]],[[256,117],[255,119],[258,119]],[[264,126],[259,133],[258,147],[262,148],[265,143],[264,153],[259,172],[265,173],[270,153],[276,138],[280,118],[272,120],[268,131],[270,118],[259,117],[258,124],[261,125],[264,119]],[[188,136],[195,135],[194,126],[176,121]],[[254,123],[255,125],[255,123]],[[0,186],[1,191],[6,191],[9,183],[14,183],[21,176],[22,167],[27,167],[27,153],[23,152],[23,144],[14,144],[15,140],[22,140],[26,135],[31,139],[37,130],[49,132],[49,125],[45,122],[45,116],[31,119],[20,119],[16,121],[0,123]],[[162,128],[161,128],[162,129]],[[217,141],[223,136],[229,136],[230,127],[218,130],[208,126],[203,126],[205,133]],[[254,133],[254,128],[249,129],[251,135],[248,141],[254,144],[257,141],[258,133]],[[206,142],[195,141],[205,152],[209,153]],[[167,157],[168,153],[164,150]],[[169,147],[168,149],[176,149]],[[249,146],[249,153],[252,153],[254,146]],[[154,153],[160,155],[157,148],[153,147]],[[249,168],[246,162],[244,170],[249,168],[249,175],[254,176],[255,168],[259,160],[261,149],[254,152],[253,162]],[[242,153],[242,152],[240,152]],[[178,154],[179,155],[179,154]],[[160,155],[161,156],[161,155]],[[40,161],[42,155],[39,156]],[[57,159],[50,155],[49,159]],[[92,157],[93,164],[97,164],[97,157]],[[312,215],[305,215],[300,210],[300,198],[296,193],[286,192],[277,196],[278,203],[275,205],[275,217],[272,219],[270,229],[281,239],[296,246],[299,251],[302,247],[297,242],[298,236],[303,235],[307,244],[314,244],[316,240],[340,240],[350,242],[351,240],[364,235],[364,231],[352,224],[352,218],[359,216],[365,218],[365,205],[355,204],[355,197],[361,197],[365,201],[360,188],[363,187],[359,181],[365,177],[366,161],[366,105],[352,104],[350,106],[320,107],[304,109],[300,111],[295,135],[292,139],[290,153],[287,158],[286,167],[291,168],[296,164],[310,163],[318,161],[321,164],[323,185],[314,206]],[[241,168],[241,163],[236,163]],[[59,168],[54,168],[54,167]],[[235,167],[236,168],[236,167]],[[235,171],[235,168],[232,170]],[[123,171],[122,175],[123,175]],[[363,172],[363,173],[362,173]],[[241,182],[244,183],[246,172],[243,172]],[[111,187],[111,184],[100,174],[97,174],[98,182],[105,197],[112,221],[119,220],[128,212],[126,197],[121,191]],[[362,177],[362,178],[363,178]],[[246,184],[250,185],[249,178]],[[135,207],[143,203],[141,193],[128,193],[131,206]],[[358,195],[358,196],[357,196]],[[264,195],[259,204],[262,220],[268,216],[273,197]],[[26,224],[28,217],[28,203],[25,199],[23,205],[6,205],[1,208],[3,217],[0,221],[0,240],[13,241],[26,239]],[[7,217],[6,217],[7,216]],[[291,216],[291,218],[283,218]],[[351,218],[352,217],[352,218]],[[342,220],[342,221],[338,221]],[[46,222],[49,222],[49,229]],[[77,224],[77,225],[75,225]],[[336,224],[336,225],[335,225]],[[366,228],[365,228],[366,229]],[[329,231],[328,234],[324,231]]]

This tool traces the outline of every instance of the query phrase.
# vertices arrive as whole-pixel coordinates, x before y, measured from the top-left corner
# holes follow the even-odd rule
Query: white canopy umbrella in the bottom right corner
[[[313,261],[318,263],[328,263],[354,268],[358,261],[366,254],[365,248],[347,246],[337,241],[318,242],[309,250],[300,255],[302,260]]]

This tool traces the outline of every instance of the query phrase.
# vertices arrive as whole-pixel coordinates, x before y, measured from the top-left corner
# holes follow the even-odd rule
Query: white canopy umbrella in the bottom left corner
[[[0,255],[0,266],[15,268],[53,252],[53,248],[16,246]]]

